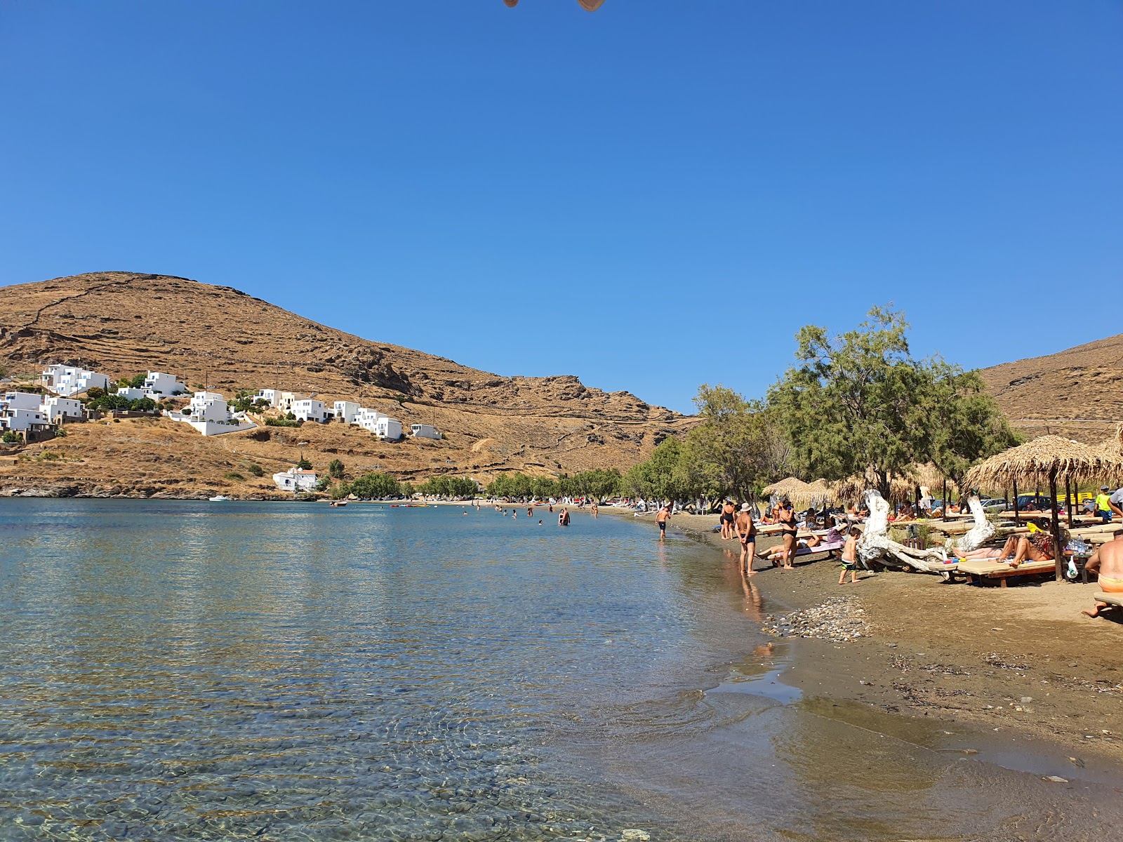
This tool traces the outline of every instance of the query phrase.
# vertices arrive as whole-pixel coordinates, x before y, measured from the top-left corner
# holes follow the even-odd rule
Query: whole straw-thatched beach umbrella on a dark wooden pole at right
[[[1057,514],[1057,481],[1087,479],[1103,473],[1105,456],[1102,450],[1081,445],[1060,436],[1041,436],[1024,445],[1012,447],[976,465],[964,477],[965,487],[994,486],[1049,482],[1049,504],[1052,509],[1053,556],[1057,559],[1057,580],[1061,580],[1060,518]]]

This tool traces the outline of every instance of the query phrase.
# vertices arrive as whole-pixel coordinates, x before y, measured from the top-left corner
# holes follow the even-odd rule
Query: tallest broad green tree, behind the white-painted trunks
[[[840,336],[815,326],[796,335],[796,365],[768,402],[806,476],[838,479],[869,469],[888,497],[892,478],[913,463],[958,468],[1012,437],[978,375],[914,359],[907,331],[904,313],[875,306]]]

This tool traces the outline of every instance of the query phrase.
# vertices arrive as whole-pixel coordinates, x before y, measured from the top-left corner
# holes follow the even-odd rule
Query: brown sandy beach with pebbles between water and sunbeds
[[[711,532],[716,522],[676,514],[672,530],[722,552],[743,582],[737,541]],[[757,549],[778,542],[763,538]],[[978,759],[1033,767],[1023,771],[1123,780],[1123,623],[1079,613],[1096,584],[974,587],[865,571],[840,587],[839,566],[811,558],[819,560],[797,559],[786,573],[757,559],[748,579],[761,595],[764,630],[795,626],[776,638],[793,643],[777,667],[805,698],[935,726]],[[800,617],[824,604],[857,613],[860,637],[805,637]]]

